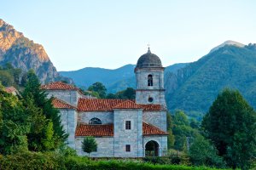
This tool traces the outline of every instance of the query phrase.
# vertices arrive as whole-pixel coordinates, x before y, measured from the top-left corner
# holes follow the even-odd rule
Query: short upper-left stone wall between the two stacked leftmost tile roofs
[[[48,97],[55,97],[66,101],[68,104],[77,106],[81,95],[75,90],[47,90]]]

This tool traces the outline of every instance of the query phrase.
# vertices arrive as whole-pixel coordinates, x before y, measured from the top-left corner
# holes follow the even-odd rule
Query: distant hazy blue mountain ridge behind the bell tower
[[[177,71],[187,64],[179,63],[166,67],[166,72]],[[78,71],[60,71],[61,76],[70,77],[79,86],[88,88],[94,82],[102,82],[108,89],[108,93],[116,93],[125,88],[135,88],[136,65],[124,65],[118,69],[103,69],[85,67]]]

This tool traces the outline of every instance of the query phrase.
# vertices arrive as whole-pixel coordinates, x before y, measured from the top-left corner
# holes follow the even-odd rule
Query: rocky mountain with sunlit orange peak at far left
[[[61,77],[44,47],[34,43],[0,19],[0,65],[10,63],[22,71],[33,69],[42,83],[70,79]]]

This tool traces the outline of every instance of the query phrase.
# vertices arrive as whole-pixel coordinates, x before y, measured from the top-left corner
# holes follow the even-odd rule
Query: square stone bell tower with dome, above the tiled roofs
[[[136,74],[136,102],[137,104],[160,104],[166,106],[164,89],[164,71],[160,58],[148,53],[137,60],[134,70]]]

